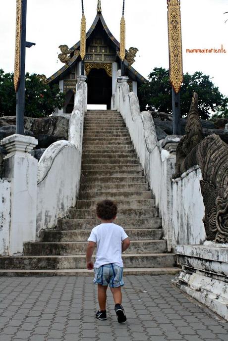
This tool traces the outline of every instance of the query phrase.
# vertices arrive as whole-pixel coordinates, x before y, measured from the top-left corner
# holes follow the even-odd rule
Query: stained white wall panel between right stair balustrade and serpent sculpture
[[[173,245],[203,244],[206,240],[201,179],[201,170],[196,166],[183,173],[181,178],[172,180]]]

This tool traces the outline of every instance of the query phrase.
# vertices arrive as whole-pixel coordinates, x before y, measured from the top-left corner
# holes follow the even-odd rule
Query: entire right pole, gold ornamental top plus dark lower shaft
[[[167,0],[173,135],[181,133],[180,88],[183,82],[180,0]]]

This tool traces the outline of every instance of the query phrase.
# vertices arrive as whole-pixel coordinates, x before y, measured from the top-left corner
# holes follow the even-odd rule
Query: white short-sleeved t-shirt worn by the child
[[[91,231],[88,242],[97,243],[95,268],[110,263],[123,267],[122,241],[128,238],[123,228],[114,223],[100,224]]]

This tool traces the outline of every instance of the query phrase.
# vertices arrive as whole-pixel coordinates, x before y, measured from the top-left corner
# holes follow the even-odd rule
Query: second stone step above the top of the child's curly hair
[[[148,191],[149,184],[142,183],[142,184],[81,184],[80,191],[81,192],[102,192],[102,191],[119,191],[119,192],[126,192],[126,191]]]

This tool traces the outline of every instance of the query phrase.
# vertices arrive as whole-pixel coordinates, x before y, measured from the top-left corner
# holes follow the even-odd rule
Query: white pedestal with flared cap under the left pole
[[[9,255],[23,252],[25,242],[36,240],[37,164],[29,153],[38,141],[14,134],[1,141],[5,156],[4,177],[11,182]]]

